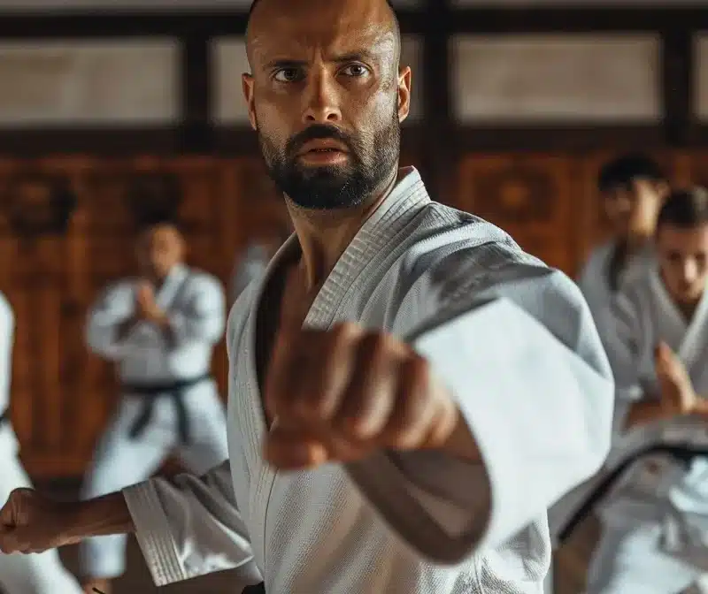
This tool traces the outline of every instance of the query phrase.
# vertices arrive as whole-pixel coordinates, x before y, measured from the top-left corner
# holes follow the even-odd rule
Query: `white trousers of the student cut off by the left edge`
[[[32,487],[17,459],[17,440],[10,425],[0,428],[0,500],[10,492]],[[0,504],[0,505],[2,505]],[[81,587],[55,550],[40,554],[5,555],[0,552],[0,588],[6,594],[80,594]]]

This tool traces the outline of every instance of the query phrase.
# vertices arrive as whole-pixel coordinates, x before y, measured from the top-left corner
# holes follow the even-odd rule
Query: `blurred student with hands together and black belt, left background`
[[[216,278],[183,263],[184,239],[169,217],[143,221],[140,276],[110,286],[89,312],[87,341],[115,362],[118,409],[101,438],[82,496],[144,480],[172,452],[201,473],[228,456],[226,416],[210,375],[224,333]],[[125,569],[125,537],[90,539],[80,549],[86,590],[109,594]]]

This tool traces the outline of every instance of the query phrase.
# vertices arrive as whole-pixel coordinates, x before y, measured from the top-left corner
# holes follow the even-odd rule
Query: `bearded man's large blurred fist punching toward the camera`
[[[265,456],[277,468],[355,461],[378,449],[443,449],[453,441],[464,444],[463,455],[474,449],[428,363],[404,342],[356,324],[281,333],[264,400],[273,419]]]

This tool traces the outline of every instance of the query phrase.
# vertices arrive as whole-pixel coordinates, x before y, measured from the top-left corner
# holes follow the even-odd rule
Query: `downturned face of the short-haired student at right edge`
[[[673,300],[696,303],[708,282],[708,225],[692,229],[661,225],[657,251],[661,277]]]

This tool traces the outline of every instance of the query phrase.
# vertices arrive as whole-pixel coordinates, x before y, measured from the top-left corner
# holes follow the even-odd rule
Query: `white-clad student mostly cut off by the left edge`
[[[10,385],[15,316],[0,293],[0,498],[13,489],[30,487],[25,469],[18,460],[18,441],[10,423]],[[80,594],[81,587],[69,573],[56,551],[36,555],[0,554],[0,589],[6,594]]]

